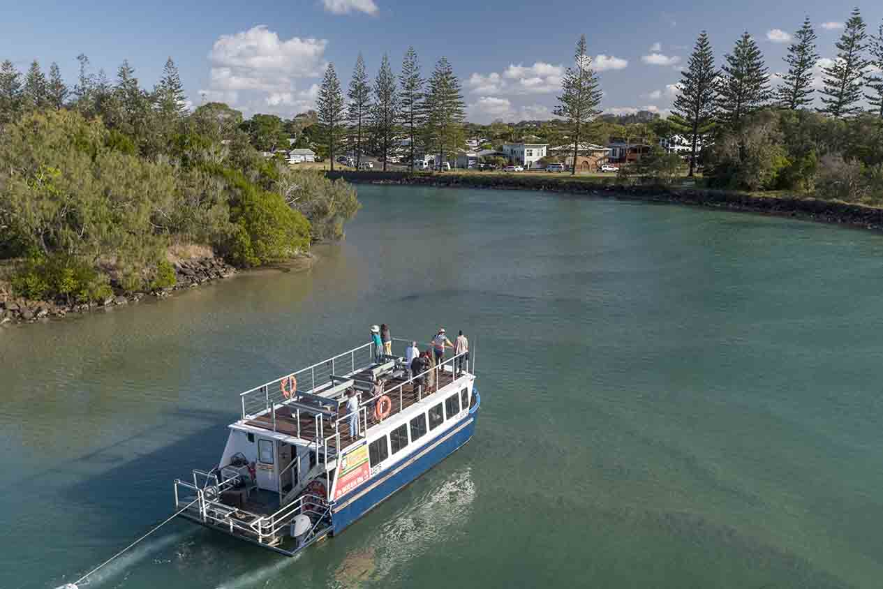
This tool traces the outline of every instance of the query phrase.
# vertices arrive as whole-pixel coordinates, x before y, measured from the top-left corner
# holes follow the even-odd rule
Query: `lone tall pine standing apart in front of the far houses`
[[[574,64],[567,68],[561,82],[555,115],[564,119],[568,134],[573,139],[573,167],[570,175],[577,173],[579,141],[585,138],[588,125],[600,114],[601,91],[598,76],[592,70],[592,57],[585,47],[585,34],[580,35]]]

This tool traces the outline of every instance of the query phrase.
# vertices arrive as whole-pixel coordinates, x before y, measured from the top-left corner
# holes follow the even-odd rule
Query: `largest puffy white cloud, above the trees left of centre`
[[[321,75],[327,46],[324,39],[280,39],[265,25],[223,34],[208,53],[209,83],[200,94],[241,109],[259,105],[304,108],[314,101],[310,93],[315,85],[298,92],[296,80]]]

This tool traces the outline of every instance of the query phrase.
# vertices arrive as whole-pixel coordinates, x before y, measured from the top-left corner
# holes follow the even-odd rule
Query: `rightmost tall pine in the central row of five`
[[[426,137],[433,147],[438,148],[439,170],[444,169],[445,154],[464,142],[465,109],[460,80],[454,75],[448,58],[442,57],[429,79],[426,98]]]

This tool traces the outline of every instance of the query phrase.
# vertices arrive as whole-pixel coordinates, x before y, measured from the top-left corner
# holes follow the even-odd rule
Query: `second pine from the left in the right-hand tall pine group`
[[[770,76],[758,43],[747,31],[736,41],[733,53],[724,56],[724,62],[718,112],[721,122],[735,129],[742,117],[769,100]]]

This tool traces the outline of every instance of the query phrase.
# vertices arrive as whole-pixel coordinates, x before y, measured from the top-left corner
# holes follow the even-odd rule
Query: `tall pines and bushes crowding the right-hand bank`
[[[794,34],[788,70],[774,89],[751,34],[740,36],[720,69],[708,34],[699,34],[663,125],[691,141],[689,175],[701,152],[705,175],[717,185],[803,188],[847,200],[883,192],[883,23],[876,34],[866,28],[854,9],[836,57],[821,68],[816,109],[820,62],[809,18]],[[710,147],[700,149],[703,142]]]

